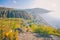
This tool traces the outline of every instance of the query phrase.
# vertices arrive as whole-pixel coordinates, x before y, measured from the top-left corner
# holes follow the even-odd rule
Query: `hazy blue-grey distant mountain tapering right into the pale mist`
[[[43,8],[32,8],[32,9],[26,9],[29,13],[32,14],[43,14],[50,12],[49,10],[43,9]]]

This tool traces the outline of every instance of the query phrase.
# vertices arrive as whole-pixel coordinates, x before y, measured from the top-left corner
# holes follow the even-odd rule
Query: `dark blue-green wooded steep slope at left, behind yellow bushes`
[[[0,18],[2,17],[31,19],[32,16],[24,10],[0,7]]]

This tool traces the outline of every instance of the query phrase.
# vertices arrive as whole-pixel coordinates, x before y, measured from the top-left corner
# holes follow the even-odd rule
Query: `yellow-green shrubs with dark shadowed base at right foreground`
[[[32,24],[32,31],[35,33],[39,33],[41,36],[49,36],[49,35],[56,35],[56,36],[60,36],[60,30],[51,27],[51,26],[47,26],[47,25],[35,25]]]

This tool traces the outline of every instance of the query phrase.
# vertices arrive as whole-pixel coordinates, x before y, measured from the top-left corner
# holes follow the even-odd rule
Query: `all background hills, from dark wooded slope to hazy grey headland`
[[[30,12],[29,12],[30,11]],[[44,12],[43,12],[44,11]],[[0,7],[0,18],[24,18],[32,20],[35,24],[49,25],[38,13],[47,13],[48,10],[35,9],[14,9]]]

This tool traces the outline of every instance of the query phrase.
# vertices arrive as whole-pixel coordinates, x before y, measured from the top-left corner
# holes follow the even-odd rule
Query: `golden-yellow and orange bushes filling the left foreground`
[[[18,31],[14,29],[18,28],[19,22],[13,20],[0,19],[0,40],[18,40]]]

